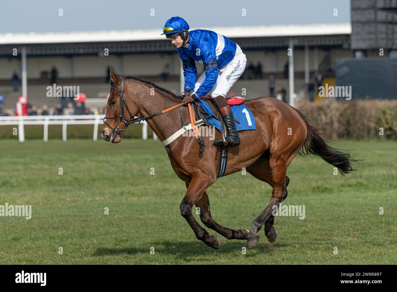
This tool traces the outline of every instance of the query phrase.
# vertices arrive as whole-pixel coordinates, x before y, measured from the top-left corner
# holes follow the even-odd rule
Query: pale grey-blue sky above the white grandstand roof
[[[161,33],[172,16],[183,17],[193,29],[348,23],[351,18],[350,0],[0,0],[0,33],[156,28]]]

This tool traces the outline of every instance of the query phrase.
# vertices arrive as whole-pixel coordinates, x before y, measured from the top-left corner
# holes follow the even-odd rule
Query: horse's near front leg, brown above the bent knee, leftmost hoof
[[[210,181],[211,179],[207,174],[201,170],[197,170],[189,183],[186,195],[179,208],[181,209],[181,215],[189,223],[193,232],[195,232],[196,238],[204,242],[206,245],[218,249],[220,247],[218,238],[213,235],[209,235],[208,232],[198,224],[192,214],[193,205],[201,199],[202,194],[211,185]]]

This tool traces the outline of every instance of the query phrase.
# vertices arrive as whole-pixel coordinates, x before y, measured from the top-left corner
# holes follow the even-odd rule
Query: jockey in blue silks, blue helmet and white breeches
[[[230,146],[239,145],[240,138],[233,113],[225,101],[225,96],[243,74],[247,64],[247,58],[240,46],[214,31],[196,29],[189,32],[187,22],[178,16],[167,20],[162,35],[172,40],[181,57],[185,76],[185,90],[182,93],[185,104],[206,96],[212,90],[211,97],[225,123],[225,140]],[[204,65],[204,72],[197,81],[195,60]],[[214,145],[222,145],[222,141],[217,139]]]

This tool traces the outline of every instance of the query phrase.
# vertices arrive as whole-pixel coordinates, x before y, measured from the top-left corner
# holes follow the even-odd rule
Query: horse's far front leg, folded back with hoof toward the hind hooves
[[[186,183],[186,187],[188,187],[189,184]],[[202,197],[198,202],[196,203],[196,207],[200,208],[200,219],[201,222],[204,223],[205,226],[208,228],[211,228],[212,230],[215,230],[218,232],[220,235],[224,236],[227,239],[241,239],[245,240],[248,237],[248,230],[245,229],[239,229],[239,230],[233,230],[229,229],[227,227],[224,227],[218,223],[216,223],[211,216],[210,213],[210,200],[208,199],[208,194],[206,191],[202,194]]]

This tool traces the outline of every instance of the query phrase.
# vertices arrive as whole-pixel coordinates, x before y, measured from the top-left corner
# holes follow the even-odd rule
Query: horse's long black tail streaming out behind
[[[324,161],[337,167],[342,174],[355,171],[351,166],[351,162],[357,162],[356,159],[350,158],[349,153],[344,153],[340,149],[333,148],[327,145],[323,139],[323,133],[320,133],[319,128],[312,126],[308,118],[306,118],[299,110],[295,108],[301,118],[306,123],[307,135],[304,139],[302,149],[299,151],[300,155],[314,154],[320,156]]]

